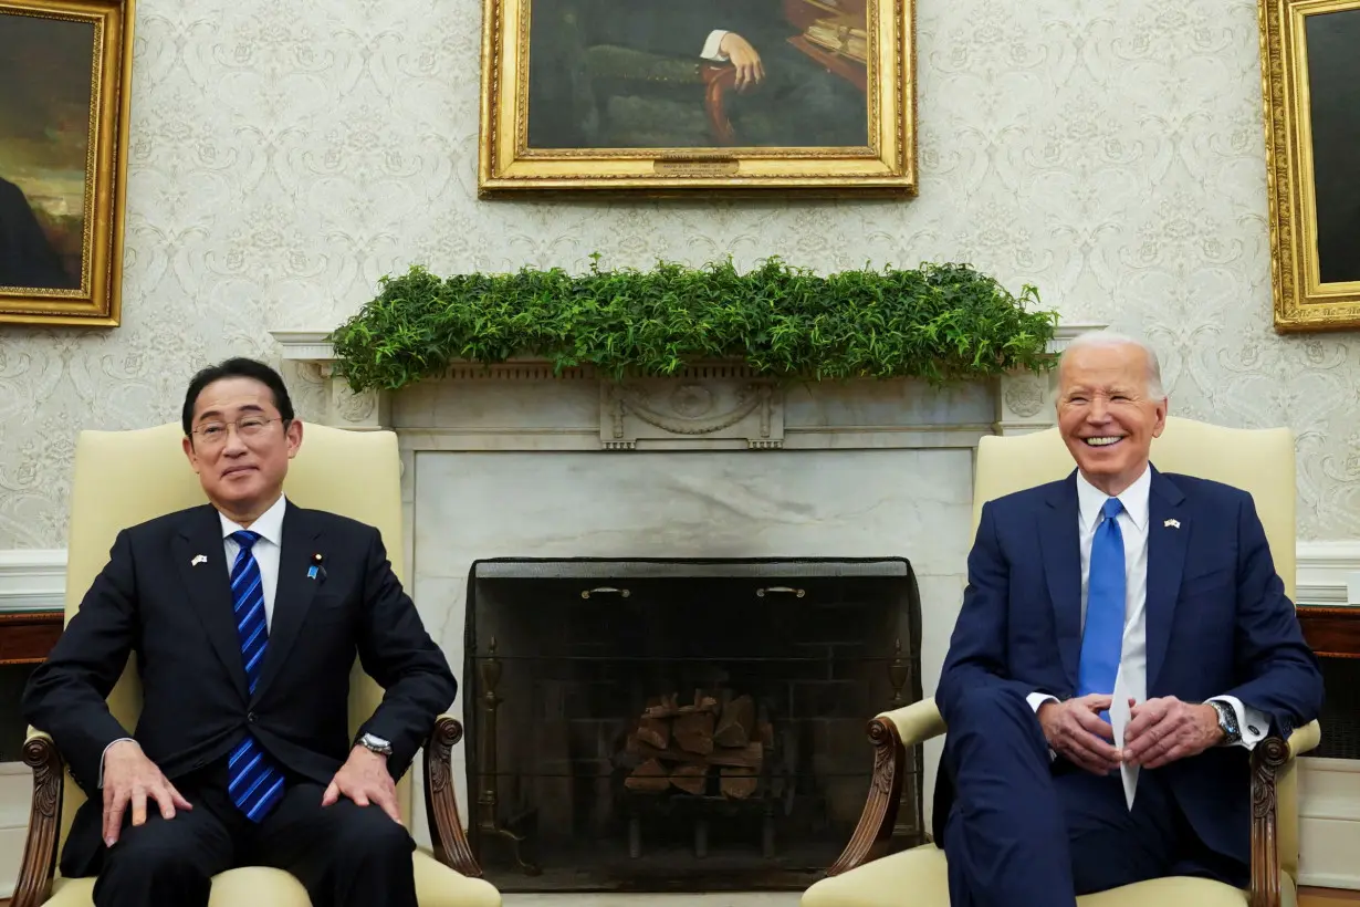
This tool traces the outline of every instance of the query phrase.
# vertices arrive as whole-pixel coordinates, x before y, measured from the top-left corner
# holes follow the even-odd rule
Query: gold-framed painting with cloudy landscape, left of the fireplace
[[[0,321],[120,318],[133,0],[0,0]]]

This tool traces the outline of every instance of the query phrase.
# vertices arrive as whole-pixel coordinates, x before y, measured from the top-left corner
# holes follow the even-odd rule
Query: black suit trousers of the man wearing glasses
[[[209,880],[234,866],[275,866],[292,873],[313,907],[416,907],[411,854],[415,842],[378,806],[341,797],[321,806],[325,787],[288,779],[283,800],[260,824],[227,797],[223,766],[180,779],[193,804],[162,819],[147,804],[147,823],[131,825],[103,851],[94,888],[97,907],[205,907]]]

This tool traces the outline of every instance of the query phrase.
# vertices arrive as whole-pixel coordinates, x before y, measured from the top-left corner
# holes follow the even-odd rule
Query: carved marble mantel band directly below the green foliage
[[[1102,326],[1059,326],[1050,349],[1058,352],[1078,333]],[[740,362],[696,363],[668,378],[613,381],[592,367],[555,373],[543,360],[513,359],[460,364],[439,381],[400,394],[355,393],[336,374],[329,332],[272,333],[286,363],[325,383],[322,422],[356,431],[394,428],[407,449],[960,447],[976,445],[982,435],[1024,434],[1054,422],[1055,373],[979,381],[960,394],[907,379],[783,382]],[[930,412],[904,412],[904,400],[932,394],[942,403]],[[458,400],[473,396],[481,403],[458,411]]]

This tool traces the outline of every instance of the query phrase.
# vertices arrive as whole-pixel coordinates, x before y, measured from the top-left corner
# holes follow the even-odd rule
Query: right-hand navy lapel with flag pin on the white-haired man
[[[1180,574],[1190,547],[1190,518],[1175,483],[1152,470],[1148,495],[1148,696],[1171,643],[1171,623],[1180,596]]]

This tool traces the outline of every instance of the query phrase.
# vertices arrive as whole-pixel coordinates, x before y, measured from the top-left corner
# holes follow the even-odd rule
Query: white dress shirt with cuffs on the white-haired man
[[[1138,479],[1119,495],[1123,510],[1115,519],[1123,536],[1125,570],[1125,619],[1123,647],[1119,653],[1119,673],[1114,683],[1114,700],[1136,703],[1148,699],[1148,495],[1152,491],[1152,468],[1142,470]],[[1081,540],[1081,627],[1087,624],[1087,594],[1091,585],[1091,544],[1096,526],[1100,525],[1102,507],[1110,495],[1100,491],[1077,470],[1077,521]],[[1190,602],[1189,606],[1194,606]],[[1042,692],[1030,694],[1030,706],[1039,711],[1046,702],[1058,702],[1057,696]],[[1213,696],[1227,703],[1238,717],[1242,741],[1236,745],[1253,749],[1265,740],[1269,721],[1261,711],[1247,707],[1236,696]]]

